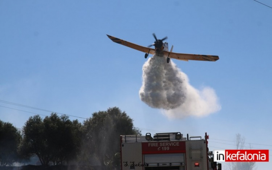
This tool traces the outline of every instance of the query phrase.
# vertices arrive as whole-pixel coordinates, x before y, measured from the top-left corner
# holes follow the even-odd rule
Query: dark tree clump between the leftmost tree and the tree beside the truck
[[[30,117],[23,127],[23,140],[19,147],[25,156],[37,155],[42,165],[68,164],[76,159],[81,143],[81,123],[66,115],[52,113],[41,119]]]

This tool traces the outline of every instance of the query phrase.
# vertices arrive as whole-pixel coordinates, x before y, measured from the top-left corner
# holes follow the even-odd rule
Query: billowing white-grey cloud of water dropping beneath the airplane
[[[150,107],[164,109],[169,118],[203,116],[221,109],[212,88],[195,89],[187,75],[164,57],[153,56],[144,63],[139,95]]]

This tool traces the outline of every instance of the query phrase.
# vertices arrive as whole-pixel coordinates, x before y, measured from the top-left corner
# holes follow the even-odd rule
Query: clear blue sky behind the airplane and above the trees
[[[254,0],[0,1],[0,100],[86,118],[117,106],[143,134],[207,132],[214,150],[234,149],[241,133],[253,148],[271,152],[271,14]],[[144,53],[106,34],[148,46],[152,33],[168,36],[173,52],[220,57],[172,60],[194,88],[215,91],[220,111],[169,119],[140,100]],[[19,128],[34,115],[24,111],[50,115],[0,106],[0,119]]]

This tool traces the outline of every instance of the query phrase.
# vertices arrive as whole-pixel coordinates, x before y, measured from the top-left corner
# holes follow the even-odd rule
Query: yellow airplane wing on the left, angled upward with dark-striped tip
[[[122,44],[122,45],[124,45],[124,46],[133,48],[133,49],[135,49],[135,50],[142,51],[142,52],[144,52],[144,53],[156,54],[155,49],[153,49],[153,48],[148,48],[148,47],[139,46],[139,45],[137,45],[137,44],[130,43],[130,42],[128,42],[128,41],[121,40],[121,39],[116,38],[116,37],[112,37],[112,36],[110,36],[110,35],[107,35],[107,36],[109,37],[109,39],[111,39],[111,40],[112,40],[113,42],[115,42],[115,43]]]

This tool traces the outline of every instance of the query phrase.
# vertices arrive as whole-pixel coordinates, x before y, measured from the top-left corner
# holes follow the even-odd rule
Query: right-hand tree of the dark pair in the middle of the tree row
[[[56,113],[44,119],[45,137],[50,146],[50,158],[53,165],[66,164],[79,153],[81,139],[81,124],[69,120],[66,115]]]

